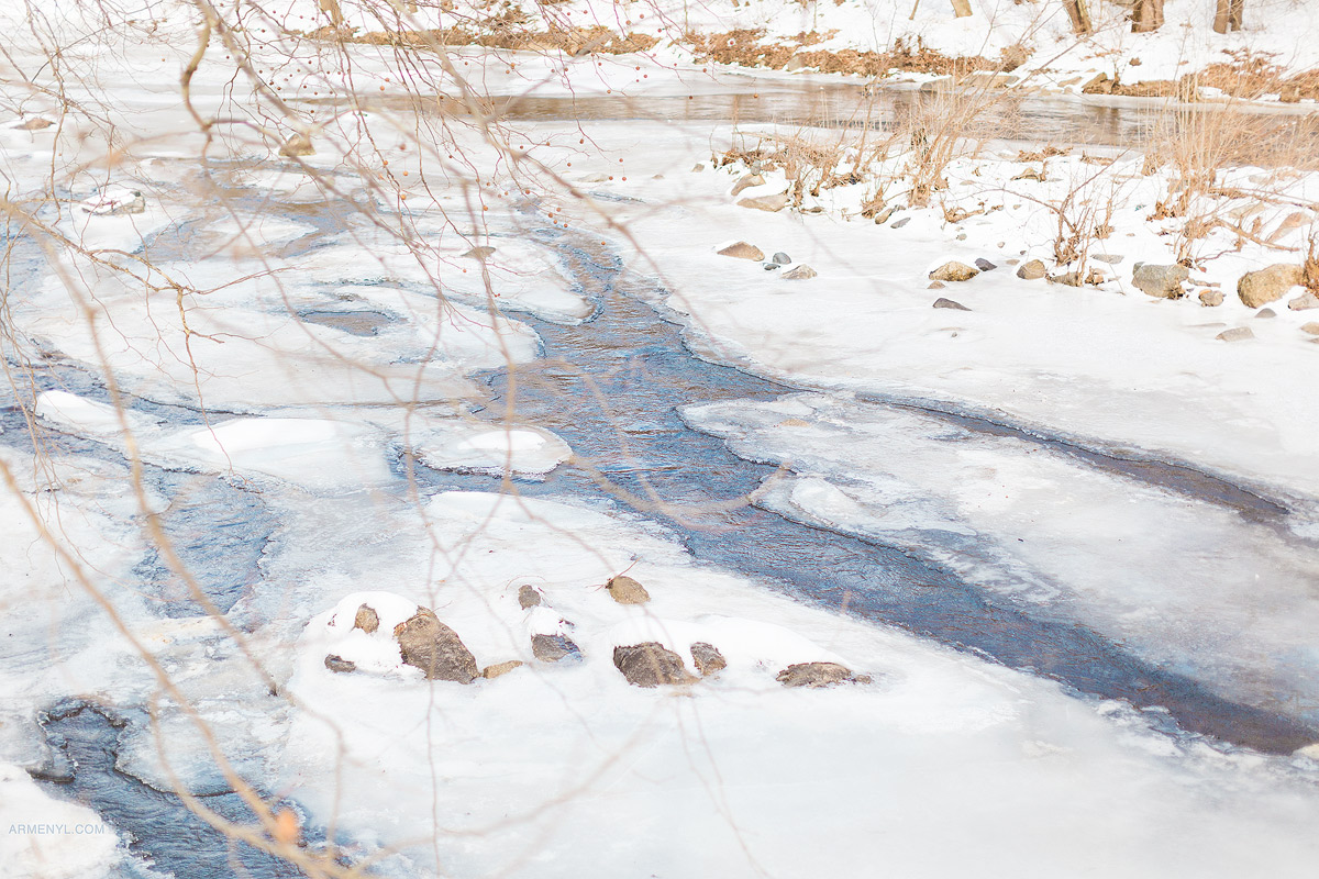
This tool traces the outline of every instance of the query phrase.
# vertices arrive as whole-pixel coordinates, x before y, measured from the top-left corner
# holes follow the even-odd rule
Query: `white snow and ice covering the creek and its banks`
[[[289,14],[313,22],[313,5]],[[768,5],[689,12],[710,16],[707,30],[727,13],[720,22],[772,20],[783,34],[807,29],[810,14],[810,28],[838,28],[863,47],[923,28],[947,51],[989,53],[1046,9],[975,3],[976,16],[956,21],[926,0],[909,22],[906,11],[882,17],[852,3],[773,16]],[[1138,51],[1140,70],[1154,70],[1174,49],[1217,51],[1198,42],[1216,40],[1204,29],[1177,30],[1195,5],[1170,0],[1153,38],[1165,49],[1128,34],[1119,40],[1128,54],[1103,63]],[[1281,3],[1301,16],[1291,28],[1265,7],[1254,29],[1225,40],[1287,51],[1279,41],[1310,26],[1301,5]],[[4,9],[21,33],[21,9]],[[79,4],[49,9],[90,14]],[[278,137],[264,140],[235,125],[208,148],[228,152],[203,174],[202,138],[175,84],[191,22],[154,9],[135,25],[157,25],[150,53],[70,50],[98,71],[70,98],[107,99],[120,133],[132,133],[111,171],[75,162],[104,149],[95,125],[61,117],[13,76],[4,84],[13,112],[0,120],[0,162],[9,198],[34,211],[25,237],[12,239],[4,299],[5,822],[95,822],[8,768],[42,763],[36,713],[70,697],[135,717],[152,706],[158,734],[131,725],[119,766],[166,789],[177,775],[197,792],[223,791],[216,755],[177,704],[185,698],[237,772],[297,801],[310,828],[332,825],[350,857],[377,857],[381,875],[861,876],[876,865],[904,876],[1308,875],[1319,846],[1312,749],[1262,755],[1170,734],[1158,712],[1151,722],[1129,705],[805,606],[698,564],[681,535],[621,503],[529,499],[495,480],[489,490],[437,490],[410,468],[553,480],[571,465],[562,438],[503,416],[477,374],[512,365],[516,380],[516,366],[542,353],[534,322],[578,327],[590,343],[598,303],[579,283],[578,257],[551,237],[566,225],[616,254],[625,279],[644,278],[637,287],[704,356],[809,389],[683,410],[736,453],[786,468],[758,503],[931,559],[997,600],[1314,729],[1319,347],[1303,326],[1319,312],[1287,307],[1301,290],[1273,303],[1272,318],[1235,295],[1244,271],[1299,258],[1312,175],[1241,169],[1215,181],[1223,192],[1191,212],[1241,208],[1235,219],[1258,217],[1249,228],[1265,242],[1235,250],[1224,228],[1187,239],[1191,295],[1162,299],[1134,289],[1132,271],[1173,262],[1186,239],[1184,217],[1146,219],[1178,178],[1145,173],[1119,149],[1104,152],[1108,165],[1079,150],[959,156],[931,207],[876,224],[863,203],[901,170],[896,153],[888,165],[852,162],[844,170],[863,179],[809,196],[803,207],[818,212],[766,212],[736,202],[783,191],[783,170],[764,167],[761,183],[733,196],[749,169],[716,170],[711,157],[782,130],[508,123],[496,146],[489,132],[454,123],[439,133],[426,128],[433,117],[390,104],[404,96],[400,71],[388,49],[371,46],[352,49],[351,87],[385,104],[335,116],[314,132],[317,153],[298,161],[273,156],[284,123],[266,119]],[[603,7],[550,9],[603,16]],[[634,11],[640,26],[656,8],[617,9]],[[678,20],[674,8],[646,21],[660,13]],[[1060,28],[1050,20],[1038,38],[1047,45]],[[1308,63],[1308,49],[1293,53],[1295,65]],[[658,63],[547,53],[510,55],[516,67],[505,67],[471,49],[452,58],[501,95],[541,83],[536,94],[550,98],[683,96],[733,82],[702,74],[678,49],[660,51],[670,55]],[[38,54],[26,40],[15,63]],[[202,112],[230,94],[220,55],[212,49],[194,82]],[[281,74],[281,88],[350,87],[336,57],[309,49],[303,62]],[[67,129],[26,127],[34,116]],[[1026,169],[1045,179],[1013,179]],[[904,204],[905,188],[893,183],[886,200]],[[58,203],[42,200],[50,191]],[[1084,262],[1054,265],[1057,219],[1075,191],[1103,196],[1093,203],[1109,228]],[[1257,192],[1273,200],[1253,208]],[[1308,219],[1289,221],[1297,212]],[[733,240],[816,274],[786,279],[783,268],[716,253]],[[996,268],[929,289],[929,270],[977,258]],[[1033,258],[1055,274],[1103,277],[1082,287],[1017,278]],[[1215,289],[1223,304],[1202,306],[1198,291]],[[968,310],[931,307],[940,297]],[[1241,326],[1254,337],[1217,339]],[[1171,459],[1287,514],[1242,517],[1058,447],[954,428],[892,402]],[[185,613],[198,602],[193,588],[212,584],[207,507],[224,493],[273,525],[253,514],[236,526],[235,546],[256,560],[223,573],[251,577],[224,584],[223,613]],[[157,526],[174,534],[181,519],[202,531],[179,540],[191,584],[153,550]],[[214,539],[233,535],[216,528]],[[623,605],[604,589],[624,569],[648,604]],[[522,586],[542,604],[524,609]],[[380,611],[377,633],[346,625],[361,604]],[[479,667],[525,664],[466,685],[426,681],[392,634],[419,606]],[[537,634],[570,638],[578,655],[538,660]],[[630,687],[613,650],[652,640],[692,676],[692,643],[719,648],[728,666],[687,684]],[[356,669],[331,671],[327,655]],[[869,681],[782,687],[778,672],[802,662],[840,663]],[[166,683],[178,689],[162,695]],[[0,836],[5,870],[140,875],[113,834],[44,842]]]

